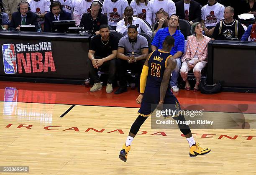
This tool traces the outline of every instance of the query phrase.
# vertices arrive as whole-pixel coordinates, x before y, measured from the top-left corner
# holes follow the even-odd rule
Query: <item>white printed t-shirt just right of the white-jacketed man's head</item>
[[[140,5],[138,5],[135,0],[131,1],[130,6],[133,8],[133,15],[137,15],[138,18],[146,20],[146,12],[150,9],[148,8],[148,5],[145,5],[145,3],[139,4]]]

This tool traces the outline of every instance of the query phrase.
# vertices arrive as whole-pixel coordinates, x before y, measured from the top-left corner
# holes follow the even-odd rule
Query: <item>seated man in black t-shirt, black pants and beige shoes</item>
[[[90,92],[95,92],[102,89],[100,83],[100,76],[97,74],[98,69],[108,69],[108,84],[106,92],[111,93],[113,91],[113,81],[115,79],[115,58],[118,49],[118,38],[110,33],[108,25],[100,25],[100,35],[92,38],[87,65],[89,73],[94,85],[90,89]]]

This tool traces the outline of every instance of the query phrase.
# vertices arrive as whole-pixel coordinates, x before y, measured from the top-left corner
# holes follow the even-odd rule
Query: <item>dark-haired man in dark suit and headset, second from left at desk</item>
[[[54,1],[50,5],[50,12],[44,15],[44,32],[54,32],[54,20],[72,20],[71,14],[62,10],[62,5],[59,1]],[[64,33],[65,30],[59,29],[57,32]]]

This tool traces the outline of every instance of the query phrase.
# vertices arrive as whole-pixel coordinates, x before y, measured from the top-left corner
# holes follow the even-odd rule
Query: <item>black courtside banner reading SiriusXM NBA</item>
[[[0,46],[0,76],[88,78],[86,42],[8,39]]]

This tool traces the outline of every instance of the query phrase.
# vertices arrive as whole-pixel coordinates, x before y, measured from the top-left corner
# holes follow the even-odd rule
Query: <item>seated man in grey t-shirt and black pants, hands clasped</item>
[[[148,56],[148,41],[145,37],[138,35],[137,27],[130,25],[127,33],[128,35],[123,36],[118,43],[116,66],[119,74],[120,88],[115,91],[115,94],[127,91],[125,77],[127,70],[138,73],[136,83],[139,82],[143,64]]]

